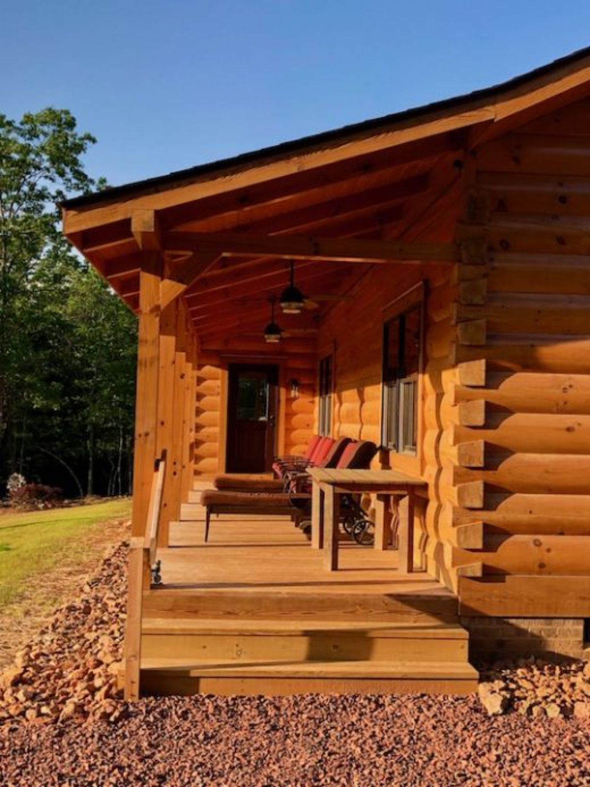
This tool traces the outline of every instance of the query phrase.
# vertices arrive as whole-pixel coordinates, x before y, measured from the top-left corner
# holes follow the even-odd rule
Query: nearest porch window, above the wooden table
[[[382,444],[399,453],[416,453],[421,352],[419,303],[383,327]]]

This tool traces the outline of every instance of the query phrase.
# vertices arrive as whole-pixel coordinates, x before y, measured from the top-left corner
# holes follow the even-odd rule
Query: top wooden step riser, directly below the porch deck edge
[[[183,593],[182,590],[152,590],[146,593],[144,618],[220,618],[300,620],[352,619],[371,623],[389,621],[404,623],[456,622],[457,600],[446,596],[404,597],[354,596],[346,593],[278,596],[276,593],[245,591],[216,593]]]

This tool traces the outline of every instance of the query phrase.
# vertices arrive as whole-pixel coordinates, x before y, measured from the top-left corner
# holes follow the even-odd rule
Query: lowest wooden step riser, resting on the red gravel
[[[455,694],[478,688],[477,680],[424,678],[239,678],[195,677],[174,671],[142,670],[142,693],[160,696],[291,696],[293,694]]]

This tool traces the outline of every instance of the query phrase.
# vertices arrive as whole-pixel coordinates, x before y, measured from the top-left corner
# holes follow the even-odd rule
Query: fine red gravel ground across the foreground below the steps
[[[197,696],[116,724],[0,730],[6,787],[590,785],[590,722],[490,719],[476,697]]]

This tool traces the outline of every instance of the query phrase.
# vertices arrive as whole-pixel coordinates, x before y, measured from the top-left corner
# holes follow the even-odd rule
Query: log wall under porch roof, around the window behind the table
[[[456,180],[444,198],[426,210],[408,235],[412,240],[446,242],[452,238],[463,206],[463,178]],[[425,289],[425,352],[419,382],[419,445],[415,456],[381,449],[374,467],[392,467],[429,480],[429,500],[417,512],[416,563],[423,563],[437,577],[451,584],[445,573],[447,552],[433,524],[441,502],[441,460],[435,447],[441,442],[442,378],[454,379],[456,327],[452,304],[459,298],[456,266],[385,264],[374,266],[352,291],[351,298],[335,306],[319,330],[319,349],[334,349],[335,436],[372,440],[381,444],[383,323],[396,311],[396,301],[419,283]],[[464,300],[473,302],[465,290]],[[451,451],[448,452],[449,456]],[[452,496],[452,484],[447,484]],[[371,507],[372,501],[366,501]]]

